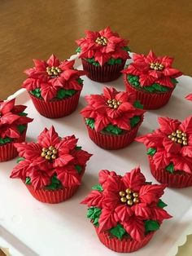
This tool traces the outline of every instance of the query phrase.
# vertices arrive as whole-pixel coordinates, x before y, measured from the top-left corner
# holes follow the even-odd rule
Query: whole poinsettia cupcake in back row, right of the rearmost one
[[[168,103],[177,79],[182,73],[172,68],[173,59],[157,57],[152,51],[148,55],[133,54],[133,63],[124,73],[124,84],[133,92],[145,109],[161,108]]]

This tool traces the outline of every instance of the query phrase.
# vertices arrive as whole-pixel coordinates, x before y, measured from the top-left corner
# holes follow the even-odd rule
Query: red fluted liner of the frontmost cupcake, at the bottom
[[[150,232],[147,234],[142,241],[134,241],[131,238],[124,238],[122,240],[117,239],[116,237],[110,237],[108,232],[98,233],[98,228],[95,228],[99,240],[103,243],[103,245],[107,246],[107,248],[114,250],[118,253],[131,253],[144,247],[149,241],[151,241],[152,236],[155,232]]]

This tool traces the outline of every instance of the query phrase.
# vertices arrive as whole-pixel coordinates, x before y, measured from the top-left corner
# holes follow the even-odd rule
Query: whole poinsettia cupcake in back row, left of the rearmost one
[[[24,71],[28,78],[23,87],[44,117],[64,117],[76,110],[85,72],[73,68],[75,60],[60,62],[55,55],[50,59],[33,60],[35,67]]]

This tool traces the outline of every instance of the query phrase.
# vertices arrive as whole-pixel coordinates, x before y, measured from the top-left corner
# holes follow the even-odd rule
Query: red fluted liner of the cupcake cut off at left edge
[[[14,143],[25,141],[26,132],[27,132],[27,128],[20,135],[20,138],[13,139],[11,143],[6,143],[0,146],[0,162],[8,161],[18,156],[18,152],[14,147]]]

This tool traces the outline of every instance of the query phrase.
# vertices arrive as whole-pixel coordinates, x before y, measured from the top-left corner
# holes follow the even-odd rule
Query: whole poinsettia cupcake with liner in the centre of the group
[[[81,110],[89,138],[99,147],[119,149],[129,145],[143,121],[142,105],[129,92],[104,87],[102,95],[85,96]]]

